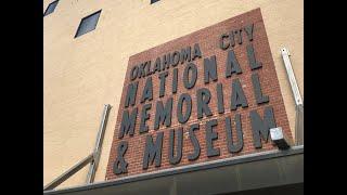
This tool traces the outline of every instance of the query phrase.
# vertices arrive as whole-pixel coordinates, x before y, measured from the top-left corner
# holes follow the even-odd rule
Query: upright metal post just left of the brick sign
[[[106,129],[105,127],[107,123],[110,108],[111,108],[111,105],[105,104],[104,110],[102,114],[102,120],[101,120],[101,123],[99,127],[97,143],[95,143],[95,147],[94,147],[94,152],[93,152],[93,161],[90,164],[89,171],[87,174],[87,180],[86,180],[87,184],[92,183],[94,181],[95,171],[97,171],[99,160],[100,160],[101,146],[102,146],[102,141],[103,141],[103,138],[105,134],[105,129]]]

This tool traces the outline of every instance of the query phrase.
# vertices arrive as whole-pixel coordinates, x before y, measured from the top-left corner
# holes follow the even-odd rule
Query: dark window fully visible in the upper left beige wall
[[[78,26],[78,29],[76,31],[75,38],[95,29],[98,21],[99,21],[100,13],[101,13],[101,10],[95,12],[95,13],[93,13],[93,14],[91,14],[91,15],[88,15],[88,16],[83,17],[79,23],[79,26]]]

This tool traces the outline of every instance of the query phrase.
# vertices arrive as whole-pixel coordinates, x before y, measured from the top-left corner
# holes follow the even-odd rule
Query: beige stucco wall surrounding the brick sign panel
[[[44,0],[43,11],[53,0]],[[111,109],[95,182],[104,181],[130,55],[260,8],[291,129],[295,108],[280,49],[291,51],[304,95],[303,0],[61,0],[43,17],[43,185],[93,150],[103,104]],[[74,39],[102,9],[95,30]],[[88,167],[57,188],[83,184]]]

